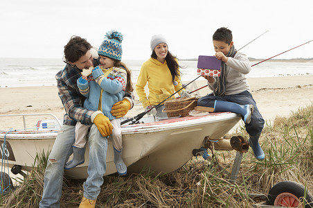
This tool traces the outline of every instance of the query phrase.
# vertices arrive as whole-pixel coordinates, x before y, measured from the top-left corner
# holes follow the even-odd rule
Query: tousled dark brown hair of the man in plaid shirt
[[[74,35],[66,46],[64,46],[64,58],[68,62],[77,62],[90,49],[91,44],[86,39]]]

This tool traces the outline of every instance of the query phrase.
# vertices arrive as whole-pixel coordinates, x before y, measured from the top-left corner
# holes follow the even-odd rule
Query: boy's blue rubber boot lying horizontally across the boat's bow
[[[215,101],[214,103],[214,112],[230,111],[241,114],[244,118],[244,123],[250,123],[253,110],[254,105],[239,105],[227,101]]]

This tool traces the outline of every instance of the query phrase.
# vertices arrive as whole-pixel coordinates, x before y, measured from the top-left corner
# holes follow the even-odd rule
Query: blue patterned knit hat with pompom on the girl
[[[107,32],[105,40],[103,40],[99,47],[98,54],[115,60],[122,60],[122,40],[123,35],[118,33],[118,31]]]

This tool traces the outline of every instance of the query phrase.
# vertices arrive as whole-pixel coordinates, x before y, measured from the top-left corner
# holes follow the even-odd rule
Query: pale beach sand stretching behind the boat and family
[[[251,94],[256,100],[258,109],[265,121],[272,122],[276,116],[289,116],[299,107],[313,102],[313,76],[282,76],[271,78],[248,78]],[[185,82],[188,83],[188,82]],[[206,85],[204,78],[199,78],[188,85],[190,92]],[[210,91],[207,87],[195,92],[204,96]],[[44,114],[51,113],[62,119],[64,107],[57,95],[57,87],[12,87],[0,88],[0,114]],[[143,112],[135,92],[135,105],[127,117]],[[32,116],[27,123],[35,125],[38,120],[53,119],[51,116]],[[21,117],[0,116],[0,129],[22,128]]]

